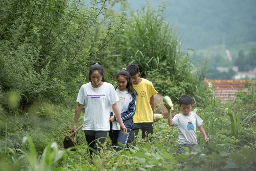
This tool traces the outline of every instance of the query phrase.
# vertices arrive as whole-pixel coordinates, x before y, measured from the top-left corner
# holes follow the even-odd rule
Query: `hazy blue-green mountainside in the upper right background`
[[[137,11],[147,0],[127,0]],[[151,0],[158,9],[162,0]],[[256,0],[166,0],[166,19],[176,27],[183,49],[204,49],[256,41]]]

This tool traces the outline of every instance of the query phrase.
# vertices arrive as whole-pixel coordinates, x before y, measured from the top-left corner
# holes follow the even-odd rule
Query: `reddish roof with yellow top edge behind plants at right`
[[[236,92],[246,88],[246,84],[251,82],[256,86],[256,80],[210,80],[204,79],[204,82],[208,85],[213,84],[215,96],[218,97],[221,102],[226,100],[233,100]]]

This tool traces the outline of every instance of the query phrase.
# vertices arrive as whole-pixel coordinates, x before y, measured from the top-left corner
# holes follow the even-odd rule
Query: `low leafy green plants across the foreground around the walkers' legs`
[[[149,135],[146,140],[139,137],[137,145],[130,151],[116,152],[107,138],[99,155],[94,156],[90,163],[82,132],[78,132],[73,138],[77,145],[76,152],[63,149],[63,138],[68,130],[62,130],[70,126],[63,117],[72,119],[73,115],[70,111],[62,111],[58,119],[55,118],[59,124],[54,129],[59,132],[50,137],[57,143],[50,143],[39,152],[36,151],[34,139],[23,138],[19,148],[9,148],[7,144],[9,145],[12,135],[6,134],[5,138],[1,138],[0,163],[4,166],[1,170],[255,170],[256,89],[247,90],[249,94],[240,91],[235,101],[225,105],[214,98],[214,94],[210,93],[211,89],[208,90],[205,100],[209,105],[205,109],[198,109],[196,113],[204,120],[203,125],[210,142],[206,144],[204,137],[199,135],[199,145],[195,145],[192,152],[185,148],[186,153],[177,153],[178,130],[168,126],[167,119],[162,119],[155,124],[154,134]],[[248,103],[247,99],[253,103]],[[230,109],[225,111],[225,107],[229,106]],[[176,113],[177,106],[174,107]],[[14,123],[20,120],[8,118]],[[12,128],[19,128],[14,123]],[[8,129],[10,127],[6,127],[5,131]]]

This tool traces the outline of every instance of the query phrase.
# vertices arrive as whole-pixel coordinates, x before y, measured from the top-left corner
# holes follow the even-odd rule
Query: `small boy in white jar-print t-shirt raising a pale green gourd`
[[[164,103],[166,107],[166,104]],[[166,107],[168,110],[168,123],[171,126],[177,126],[178,128],[178,151],[184,153],[184,149],[181,147],[189,147],[192,150],[193,145],[197,144],[196,139],[196,127],[204,136],[206,142],[209,141],[204,128],[202,126],[203,120],[196,114],[191,112],[193,107],[193,101],[191,96],[182,95],[179,98],[179,106],[181,113],[175,115],[172,119],[171,110]]]

